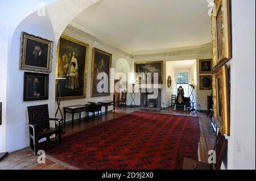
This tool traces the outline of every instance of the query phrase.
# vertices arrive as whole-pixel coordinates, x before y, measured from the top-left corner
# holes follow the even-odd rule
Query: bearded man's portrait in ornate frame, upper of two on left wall
[[[22,32],[20,42],[20,70],[52,71],[53,41]]]

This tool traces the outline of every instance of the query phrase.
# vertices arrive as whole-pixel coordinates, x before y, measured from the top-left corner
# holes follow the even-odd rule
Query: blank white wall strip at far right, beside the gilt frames
[[[223,168],[255,170],[255,1],[232,1],[230,136]]]

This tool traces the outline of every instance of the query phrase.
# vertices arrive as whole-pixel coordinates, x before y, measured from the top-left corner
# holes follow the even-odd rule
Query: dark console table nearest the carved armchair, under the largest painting
[[[79,120],[81,121],[81,112],[86,112],[87,108],[88,108],[88,106],[84,106],[84,105],[63,107],[63,109],[64,109],[64,126],[66,125],[66,113],[72,114],[72,129],[73,129],[75,113],[79,113]]]

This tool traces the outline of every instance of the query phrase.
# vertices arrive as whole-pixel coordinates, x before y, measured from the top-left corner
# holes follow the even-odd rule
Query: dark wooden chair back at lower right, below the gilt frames
[[[228,140],[226,140],[225,136],[219,132],[214,145],[214,150],[216,151],[216,164],[214,164],[214,167],[216,170],[220,170],[227,145]]]

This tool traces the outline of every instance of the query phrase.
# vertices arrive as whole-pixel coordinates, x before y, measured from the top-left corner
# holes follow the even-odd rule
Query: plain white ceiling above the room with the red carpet
[[[206,0],[102,0],[73,22],[136,52],[209,43],[208,10]]]

